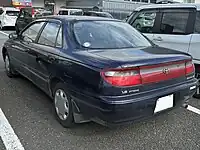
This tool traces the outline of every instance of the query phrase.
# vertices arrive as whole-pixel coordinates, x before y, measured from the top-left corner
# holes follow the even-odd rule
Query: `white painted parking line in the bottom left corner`
[[[0,108],[0,136],[6,147],[6,150],[24,150],[17,135],[6,119],[3,111]]]

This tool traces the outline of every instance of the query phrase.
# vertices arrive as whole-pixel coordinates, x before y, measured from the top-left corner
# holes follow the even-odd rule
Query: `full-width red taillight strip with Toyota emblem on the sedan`
[[[181,61],[137,68],[110,69],[102,71],[101,76],[113,86],[135,86],[187,76],[194,71],[192,61]]]

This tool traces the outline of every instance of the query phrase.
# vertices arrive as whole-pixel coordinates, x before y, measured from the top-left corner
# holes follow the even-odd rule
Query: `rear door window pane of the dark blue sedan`
[[[49,22],[43,29],[38,43],[47,46],[55,46],[60,24]]]

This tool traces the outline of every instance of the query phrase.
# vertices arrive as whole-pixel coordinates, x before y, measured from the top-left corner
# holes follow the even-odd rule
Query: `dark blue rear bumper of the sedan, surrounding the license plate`
[[[150,118],[188,103],[196,92],[196,87],[197,80],[192,79],[192,81],[179,86],[149,92],[148,96],[143,94],[139,99],[134,99],[133,96],[101,97],[90,101],[94,103],[87,103],[86,100],[82,101],[77,97],[73,97],[73,99],[80,108],[80,112],[91,120],[106,126],[121,125]],[[174,95],[173,107],[154,114],[157,100],[170,94]]]

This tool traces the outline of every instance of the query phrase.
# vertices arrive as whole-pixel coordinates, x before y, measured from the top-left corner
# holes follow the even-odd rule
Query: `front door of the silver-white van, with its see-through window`
[[[159,9],[142,10],[132,15],[132,18],[128,19],[128,23],[150,40],[153,40],[159,16]]]

